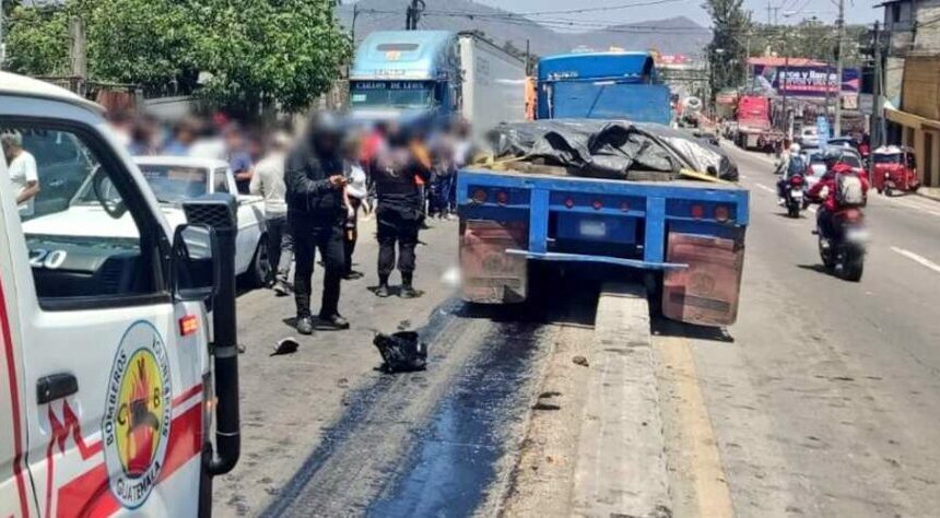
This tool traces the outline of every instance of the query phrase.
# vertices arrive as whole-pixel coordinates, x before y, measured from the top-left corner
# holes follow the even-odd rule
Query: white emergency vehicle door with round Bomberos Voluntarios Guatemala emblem
[[[98,120],[85,120],[0,122],[35,156],[40,197],[78,186],[37,197],[13,225],[13,268],[32,271],[14,283],[37,506],[49,517],[195,516],[205,323],[174,302],[155,205]]]

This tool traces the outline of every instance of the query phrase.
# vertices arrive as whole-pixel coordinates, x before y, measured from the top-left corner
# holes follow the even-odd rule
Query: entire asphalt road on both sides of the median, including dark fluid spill
[[[772,162],[730,153],[751,191],[738,323],[654,320],[672,516],[937,516],[940,203],[872,193],[849,283],[821,268],[814,214],[776,204]],[[244,448],[215,515],[569,514],[591,372],[572,358],[594,360],[597,286],[559,279],[537,306],[473,309],[454,296],[457,224],[436,222],[424,296],[379,299],[373,227],[366,278],[343,284],[352,330],[270,356],[295,334],[292,299],[239,297]],[[372,337],[396,329],[431,343],[426,372],[377,370]]]

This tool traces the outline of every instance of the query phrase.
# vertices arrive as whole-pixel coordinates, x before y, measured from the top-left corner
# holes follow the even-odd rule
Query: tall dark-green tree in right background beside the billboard
[[[751,21],[743,0],[706,0],[702,5],[712,16],[712,43],[706,47],[712,70],[712,91],[737,86],[743,78],[744,37]]]

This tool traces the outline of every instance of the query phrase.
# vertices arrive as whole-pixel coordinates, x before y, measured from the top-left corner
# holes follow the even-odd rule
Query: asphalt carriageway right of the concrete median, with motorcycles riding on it
[[[937,516],[940,203],[872,193],[849,283],[820,268],[815,214],[777,207],[771,161],[731,154],[751,191],[738,322],[656,340],[675,516]]]

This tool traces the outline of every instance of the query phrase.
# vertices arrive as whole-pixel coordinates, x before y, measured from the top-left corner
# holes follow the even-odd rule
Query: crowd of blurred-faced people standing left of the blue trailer
[[[132,155],[218,158],[228,163],[239,193],[263,199],[269,286],[294,295],[296,328],[348,329],[340,314],[343,280],[353,266],[362,219],[375,219],[376,296],[414,298],[415,247],[430,219],[456,215],[457,170],[470,157],[469,126],[436,130],[393,120],[368,127],[317,113],[296,136],[287,129],[252,131],[223,115],[186,118],[172,129],[149,117],[115,114],[111,127]],[[324,285],[310,310],[319,254]],[[392,283],[398,270],[400,282]]]

